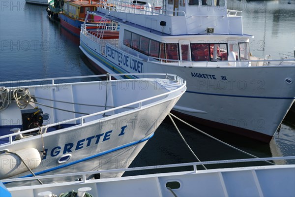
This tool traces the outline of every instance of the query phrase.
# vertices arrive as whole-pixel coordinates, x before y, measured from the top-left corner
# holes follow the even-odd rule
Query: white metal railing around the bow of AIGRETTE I
[[[58,126],[58,125],[61,125],[61,124],[64,124],[64,123],[76,122],[76,121],[79,121],[79,120],[80,120],[80,124],[77,124],[77,125],[83,126],[83,124],[85,123],[84,120],[86,118],[96,116],[96,115],[105,114],[105,113],[108,113],[108,112],[112,112],[112,111],[115,111],[115,110],[118,110],[118,109],[122,109],[122,108],[126,108],[126,107],[129,107],[129,106],[132,106],[132,105],[136,105],[136,104],[138,105],[138,107],[137,108],[132,108],[132,110],[141,109],[142,106],[144,106],[143,102],[148,101],[148,100],[152,100],[152,99],[156,99],[156,98],[160,98],[160,97],[163,97],[163,96],[166,96],[166,95],[169,95],[169,94],[172,94],[174,92],[177,92],[178,90],[180,90],[184,86],[186,86],[186,81],[185,80],[183,80],[182,78],[178,77],[175,74],[168,74],[168,73],[125,73],[125,74],[91,75],[91,76],[78,76],[78,77],[59,77],[59,78],[47,78],[47,79],[32,79],[32,80],[29,80],[29,82],[52,81],[51,85],[52,86],[57,86],[57,85],[59,85],[59,83],[55,83],[55,80],[81,79],[81,78],[93,78],[93,77],[105,77],[105,76],[107,76],[109,78],[108,80],[112,81],[112,76],[136,76],[136,75],[157,75],[157,76],[161,75],[161,76],[165,76],[165,78],[169,78],[169,79],[171,79],[170,77],[172,77],[173,79],[171,79],[171,80],[177,81],[181,86],[179,88],[175,89],[175,90],[171,90],[171,91],[168,91],[166,93],[162,93],[160,95],[149,97],[147,99],[141,99],[141,100],[138,100],[138,101],[135,101],[135,102],[131,102],[131,103],[128,103],[128,104],[124,104],[124,105],[114,107],[112,109],[99,111],[99,112],[92,113],[92,114],[85,115],[85,116],[81,116],[81,117],[78,117],[78,118],[73,118],[73,119],[69,119],[69,120],[60,121],[58,123],[48,124],[48,125],[45,125],[45,126],[41,127],[42,131],[45,130],[46,128],[49,128],[49,127],[55,127],[55,126]],[[145,79],[137,79],[137,80],[145,80]],[[6,82],[0,82],[0,86],[2,86],[2,84],[27,83],[27,82],[28,82],[28,80],[6,81]],[[45,84],[42,83],[42,85],[45,85]],[[40,130],[40,128],[34,128],[34,129],[26,130],[26,131],[11,133],[11,134],[0,136],[0,139],[9,138],[9,142],[7,142],[7,143],[12,144],[14,142],[12,140],[12,136],[23,134],[23,133],[28,133],[28,132],[32,132],[32,131],[38,131],[38,130]],[[7,144],[7,143],[5,143],[5,144]],[[1,145],[3,145],[3,144],[1,144]]]

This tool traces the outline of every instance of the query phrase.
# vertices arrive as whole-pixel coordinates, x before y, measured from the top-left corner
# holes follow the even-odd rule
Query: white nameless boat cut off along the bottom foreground
[[[287,157],[295,159],[295,157]],[[93,172],[41,176],[43,178],[80,175],[80,181],[8,188],[12,197],[294,197],[295,165],[244,166],[243,162],[286,158],[262,158],[170,164],[121,169],[124,171],[166,168],[166,173],[86,180]],[[197,165],[226,164],[228,168],[197,170]],[[238,163],[240,167],[236,166]],[[251,163],[253,164],[253,163]],[[189,171],[177,171],[179,166]],[[168,169],[167,169],[168,168]],[[173,171],[168,172],[167,170]],[[108,173],[114,170],[97,171]],[[116,172],[119,170],[115,170]],[[23,178],[23,179],[35,179]],[[5,181],[5,180],[1,180]],[[60,195],[60,196],[59,196]]]

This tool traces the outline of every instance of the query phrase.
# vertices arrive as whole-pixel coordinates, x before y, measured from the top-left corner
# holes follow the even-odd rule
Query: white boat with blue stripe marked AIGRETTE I
[[[0,83],[14,86],[0,88],[1,179],[126,168],[186,90],[176,75],[102,76]],[[62,180],[75,177],[47,183]]]

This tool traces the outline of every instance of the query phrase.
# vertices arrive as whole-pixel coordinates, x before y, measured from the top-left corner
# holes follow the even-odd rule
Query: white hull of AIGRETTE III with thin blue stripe
[[[294,66],[173,66],[142,61],[119,51],[128,63],[112,53],[100,54],[99,45],[84,34],[80,40],[80,48],[90,61],[106,72],[179,75],[187,81],[187,91],[174,107],[178,114],[260,141],[271,140],[295,100]],[[107,45],[106,51],[118,48]]]

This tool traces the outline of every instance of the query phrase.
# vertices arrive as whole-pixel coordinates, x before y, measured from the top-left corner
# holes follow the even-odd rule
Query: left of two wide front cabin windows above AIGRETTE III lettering
[[[191,44],[192,61],[209,61],[208,44]]]

